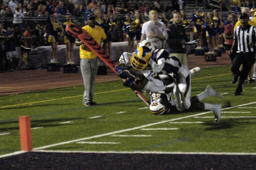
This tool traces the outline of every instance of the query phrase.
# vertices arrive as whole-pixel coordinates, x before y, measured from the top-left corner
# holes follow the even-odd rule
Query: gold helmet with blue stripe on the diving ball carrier
[[[131,66],[135,70],[144,70],[149,64],[151,56],[152,52],[149,48],[139,47],[131,56]]]

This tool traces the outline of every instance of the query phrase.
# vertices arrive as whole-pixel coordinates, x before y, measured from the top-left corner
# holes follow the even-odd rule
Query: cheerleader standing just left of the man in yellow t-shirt
[[[73,49],[74,49],[74,45],[75,45],[75,38],[70,36],[67,32],[66,32],[66,26],[68,24],[72,23],[71,21],[71,16],[70,14],[66,14],[66,22],[64,22],[63,24],[63,30],[64,30],[64,43],[66,44],[66,64],[74,64],[74,62],[72,61],[73,58]]]

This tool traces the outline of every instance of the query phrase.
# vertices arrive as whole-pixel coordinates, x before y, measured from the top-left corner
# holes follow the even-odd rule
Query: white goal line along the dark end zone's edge
[[[193,154],[193,155],[256,155],[248,152],[160,152],[160,151],[52,151],[37,150],[46,153],[99,153],[99,154]],[[1,157],[1,156],[0,156]]]

